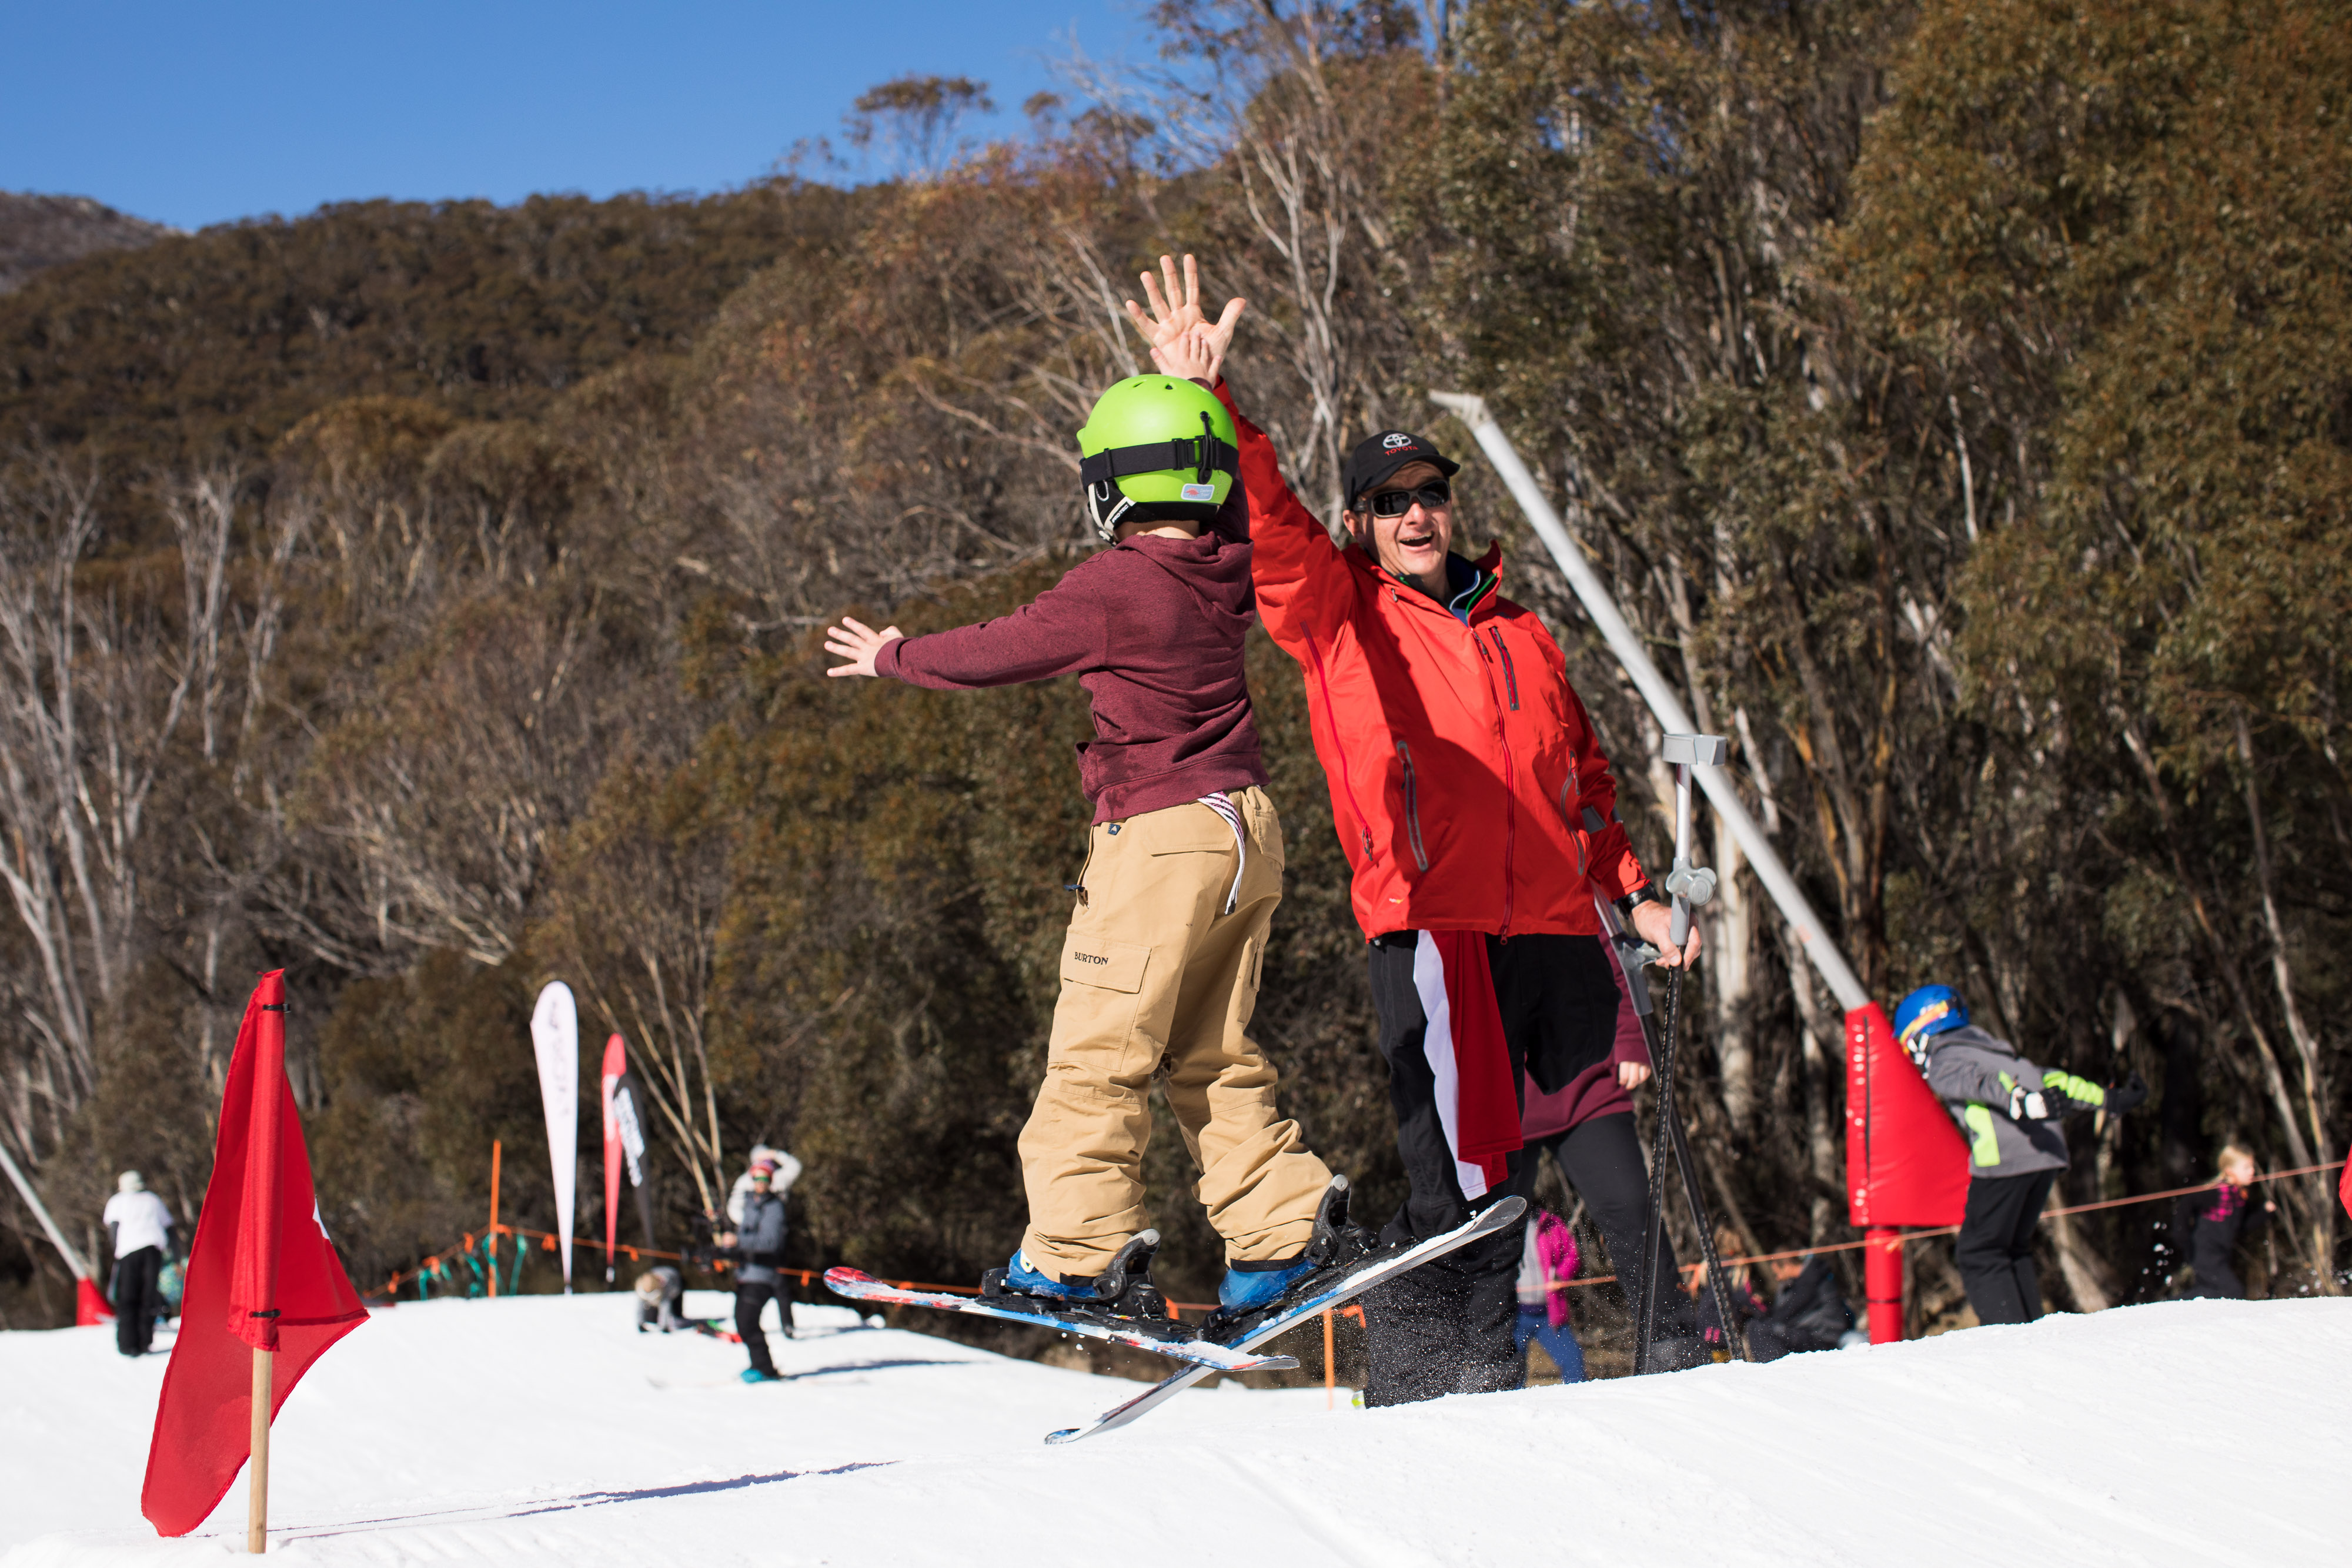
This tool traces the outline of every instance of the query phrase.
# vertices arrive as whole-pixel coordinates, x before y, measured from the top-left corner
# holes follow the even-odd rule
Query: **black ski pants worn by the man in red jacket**
[[[1388,1060],[1397,1154],[1409,1185],[1404,1206],[1381,1232],[1388,1244],[1454,1229],[1472,1211],[1512,1194],[1519,1171],[1534,1168],[1522,1150],[1508,1157],[1512,1175],[1503,1185],[1475,1201],[1463,1197],[1454,1150],[1437,1117],[1437,1077],[1423,1048],[1428,1013],[1414,985],[1418,947],[1418,931],[1397,931],[1369,945],[1371,1004],[1381,1016],[1381,1056]],[[1531,1056],[1548,1086],[1559,1086],[1609,1053],[1616,980],[1609,978],[1595,938],[1486,938],[1486,964],[1494,971],[1515,1081]],[[1639,1154],[1635,1159],[1639,1164]],[[1524,1244],[1526,1227],[1512,1225],[1367,1293],[1367,1406],[1519,1387],[1522,1361],[1512,1331],[1519,1321]]]

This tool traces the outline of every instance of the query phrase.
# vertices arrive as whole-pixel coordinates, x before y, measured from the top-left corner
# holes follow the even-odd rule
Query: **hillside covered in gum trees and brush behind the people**
[[[0,299],[0,1138],[49,1204],[94,1225],[136,1166],[193,1215],[249,976],[285,966],[353,1274],[480,1229],[492,1138],[543,1227],[527,1016],[562,978],[659,1100],[663,1246],[767,1140],[809,1166],[797,1258],[1002,1262],[1084,698],[826,682],[816,628],[1002,614],[1077,559],[1070,433],[1141,367],[1115,303],[1167,249],[1251,299],[1237,395],[1327,515],[1359,435],[1468,458],[1425,393],[1489,397],[1879,997],[1943,980],[2037,1060],[2157,1086],[2072,1124],[2070,1201],[2232,1138],[2338,1159],[2340,16],[1432,14],[1169,0],[1157,66],[924,174],[329,207]],[[1461,496],[1663,863],[1653,724],[1482,463]],[[1263,639],[1251,689],[1289,839],[1258,1032],[1385,1211],[1362,936]],[[1757,1251],[1846,1239],[1837,1009],[1708,835],[1677,1093],[1710,1199]],[[1162,1133],[1162,1274],[1200,1300]],[[2326,1187],[2274,1194],[2258,1288],[2336,1288]],[[2161,1218],[2046,1227],[2051,1298],[2159,1295]],[[1955,1312],[1912,1255],[1915,1324]],[[0,1199],[0,1326],[68,1302]]]

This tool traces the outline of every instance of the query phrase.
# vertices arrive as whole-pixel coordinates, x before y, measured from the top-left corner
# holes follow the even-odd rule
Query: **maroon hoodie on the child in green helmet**
[[[1254,614],[1249,522],[1228,505],[1200,538],[1136,534],[1009,616],[887,642],[875,675],[941,691],[1077,675],[1096,736],[1080,788],[1115,823],[1265,783],[1242,679]]]

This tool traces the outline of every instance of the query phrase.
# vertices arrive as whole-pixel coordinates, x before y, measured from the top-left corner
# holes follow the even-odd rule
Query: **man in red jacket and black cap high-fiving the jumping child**
[[[1162,273],[1164,292],[1143,280],[1150,315],[1129,303],[1138,329],[1152,343],[1207,331],[1223,362],[1242,301],[1209,327],[1192,261],[1181,287],[1169,259]],[[1698,957],[1698,931],[1670,943],[1566,658],[1501,595],[1501,545],[1477,562],[1454,552],[1458,463],[1406,430],[1364,440],[1343,470],[1338,548],[1284,484],[1272,442],[1240,411],[1235,425],[1258,618],[1305,672],[1369,940],[1411,1185],[1385,1239],[1432,1237],[1517,1175],[1519,1072],[1557,1093],[1609,1058],[1618,990],[1595,891],[1668,966]],[[1510,1229],[1371,1298],[1367,1403],[1515,1387],[1519,1248]]]

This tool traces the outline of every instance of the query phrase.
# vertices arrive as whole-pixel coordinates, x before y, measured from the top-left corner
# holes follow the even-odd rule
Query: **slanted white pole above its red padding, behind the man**
[[[1498,425],[1494,414],[1486,411],[1486,400],[1468,393],[1430,393],[1430,402],[1437,402],[1470,425],[1470,435],[1477,437],[1486,461],[1494,463],[1498,475],[1503,475],[1503,484],[1510,487],[1519,510],[1526,512],[1526,522],[1536,529],[1536,538],[1541,538],[1543,548],[1552,552],[1555,562],[1559,562],[1559,571],[1569,578],[1569,588],[1576,590],[1585,614],[1592,616],[1592,625],[1599,628],[1609,651],[1625,665],[1625,675],[1632,677],[1642,701],[1649,703],[1649,710],[1658,717],[1658,726],[1670,736],[1698,729],[1691,724],[1691,715],[1682,710],[1682,701],[1675,696],[1675,689],[1665,684],[1658,665],[1651,663],[1642,639],[1632,635],[1630,625],[1625,625],[1625,616],[1618,614],[1618,607],[1602,585],[1599,574],[1592,571],[1583,550],[1578,550],[1576,541],[1569,538],[1566,524],[1559,522],[1559,512],[1555,512],[1552,503],[1545,501],[1543,489],[1536,484],[1536,475],[1526,473],[1526,463],[1519,461],[1510,437],[1503,435],[1503,425]],[[1731,825],[1731,837],[1740,842],[1740,851],[1745,851],[1748,863],[1755,865],[1757,882],[1762,882],[1764,891],[1771,893],[1771,900],[1780,905],[1783,919],[1788,919],[1788,924],[1797,931],[1797,943],[1804,945],[1804,954],[1813,959],[1813,969],[1818,969],[1820,978],[1830,985],[1830,992],[1837,997],[1837,1006],[1846,1013],[1867,1006],[1870,992],[1865,992],[1863,983],[1853,976],[1853,969],[1846,964],[1846,954],[1842,954],[1828,931],[1823,931],[1820,917],[1813,914],[1813,905],[1809,905],[1804,893],[1797,891],[1797,879],[1788,875],[1788,867],[1780,863],[1780,853],[1771,846],[1771,839],[1764,837],[1764,827],[1748,816],[1748,806],[1740,802],[1731,778],[1722,769],[1698,769],[1698,788],[1708,792],[1708,799],[1715,802],[1715,811]]]

